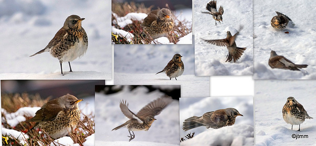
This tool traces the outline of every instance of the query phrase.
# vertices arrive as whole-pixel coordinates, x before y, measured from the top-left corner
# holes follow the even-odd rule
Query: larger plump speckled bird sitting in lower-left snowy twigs
[[[77,127],[80,119],[78,103],[81,101],[70,94],[50,100],[28,121],[36,122],[32,129],[39,127],[51,138],[63,137]]]

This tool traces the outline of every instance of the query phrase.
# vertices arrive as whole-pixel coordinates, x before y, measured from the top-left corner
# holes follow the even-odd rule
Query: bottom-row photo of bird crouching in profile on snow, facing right
[[[253,97],[180,98],[181,146],[254,145]]]

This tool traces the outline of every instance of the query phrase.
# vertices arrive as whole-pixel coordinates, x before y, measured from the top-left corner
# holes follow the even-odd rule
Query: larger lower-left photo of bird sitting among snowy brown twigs
[[[104,80],[1,80],[3,146],[94,146],[94,86]]]

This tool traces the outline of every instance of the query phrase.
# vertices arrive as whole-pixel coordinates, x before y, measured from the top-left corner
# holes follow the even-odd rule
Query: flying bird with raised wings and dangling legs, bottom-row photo
[[[148,131],[148,129],[152,126],[153,122],[157,120],[155,118],[161,110],[163,110],[166,106],[168,106],[172,102],[172,98],[169,97],[161,97],[158,98],[135,114],[131,110],[128,109],[128,104],[126,104],[126,100],[122,100],[119,102],[119,108],[122,113],[129,118],[128,121],[115,127],[113,130],[118,130],[119,128],[126,127],[128,129],[129,135],[129,142],[135,138],[134,131]],[[130,133],[132,131],[133,134]]]

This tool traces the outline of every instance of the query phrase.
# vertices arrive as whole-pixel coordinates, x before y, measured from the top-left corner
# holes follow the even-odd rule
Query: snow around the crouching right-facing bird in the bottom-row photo
[[[181,142],[181,146],[241,146],[254,145],[253,97],[180,98],[180,137],[195,132],[194,138]],[[198,127],[182,130],[183,121],[208,111],[235,108],[243,116],[237,116],[233,126],[220,129]],[[186,138],[185,138],[186,139]]]

